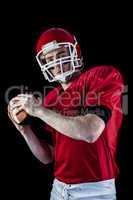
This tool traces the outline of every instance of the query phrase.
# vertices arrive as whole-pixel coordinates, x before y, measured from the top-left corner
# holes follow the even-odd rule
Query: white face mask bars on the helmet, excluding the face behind
[[[61,58],[57,58],[54,61],[46,62],[45,56],[47,53],[60,49],[60,48],[68,48],[68,55],[63,56]],[[50,51],[48,50],[50,49]],[[47,52],[47,53],[46,53]],[[46,54],[45,54],[46,53]],[[46,80],[49,82],[53,81],[65,81],[65,78],[75,72],[76,68],[80,68],[82,66],[82,59],[78,58],[76,44],[72,44],[69,42],[66,43],[55,43],[48,45],[47,47],[43,47],[43,49],[36,56],[37,62],[41,68],[41,71]],[[64,65],[69,64],[70,69],[64,72]],[[54,76],[51,72],[51,69],[56,66],[60,67],[61,74]]]

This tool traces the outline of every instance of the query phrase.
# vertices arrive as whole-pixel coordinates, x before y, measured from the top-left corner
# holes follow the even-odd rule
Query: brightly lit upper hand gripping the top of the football
[[[10,105],[11,110],[16,109],[16,112],[24,110],[30,116],[37,117],[36,111],[42,107],[42,102],[32,94],[19,94],[12,99]]]

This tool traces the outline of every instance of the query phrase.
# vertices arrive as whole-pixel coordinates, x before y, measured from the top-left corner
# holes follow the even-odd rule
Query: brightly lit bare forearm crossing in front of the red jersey
[[[101,119],[94,114],[85,116],[67,117],[49,109],[37,111],[38,117],[51,127],[76,140],[94,142],[101,133]]]

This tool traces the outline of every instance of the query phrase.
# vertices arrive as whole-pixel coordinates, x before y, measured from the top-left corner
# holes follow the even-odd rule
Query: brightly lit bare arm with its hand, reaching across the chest
[[[29,115],[40,118],[63,135],[76,140],[95,142],[105,128],[104,120],[97,113],[68,117],[43,106],[36,106],[32,95],[18,95],[15,99],[18,100],[20,110],[24,109]]]

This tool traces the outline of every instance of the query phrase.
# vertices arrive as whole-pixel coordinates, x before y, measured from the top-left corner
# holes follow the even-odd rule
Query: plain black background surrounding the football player
[[[51,9],[52,6],[52,9]],[[34,47],[42,31],[62,27],[75,34],[80,43],[86,69],[95,65],[114,65],[128,84],[130,22],[126,7],[116,5],[95,7],[79,5],[65,9],[57,5],[31,7],[18,5],[2,21],[1,67],[1,147],[2,183],[10,197],[48,199],[52,184],[53,165],[44,166],[28,149],[24,139],[7,117],[5,92],[10,86],[28,86],[43,91],[48,85],[35,60]],[[85,9],[86,8],[86,9]],[[50,9],[50,10],[49,10]],[[14,95],[14,94],[12,94]],[[40,122],[37,122],[40,123]],[[41,123],[40,123],[41,125]],[[37,129],[39,137],[41,129]],[[118,198],[129,199],[129,133],[128,117],[124,116],[118,146],[120,176]]]

